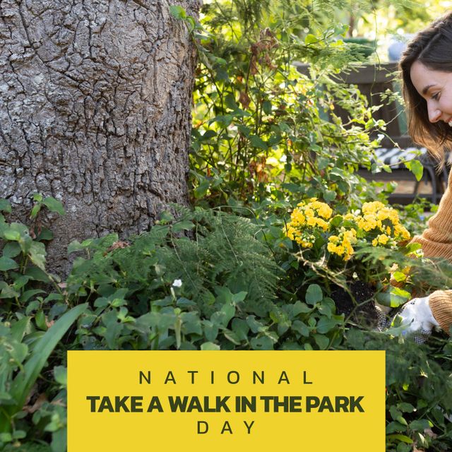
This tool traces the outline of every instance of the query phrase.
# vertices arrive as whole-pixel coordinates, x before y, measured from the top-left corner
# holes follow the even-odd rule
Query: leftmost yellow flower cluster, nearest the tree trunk
[[[311,198],[309,203],[301,202],[290,215],[287,224],[287,237],[295,240],[304,248],[312,248],[316,239],[314,230],[328,231],[333,210],[326,203]]]

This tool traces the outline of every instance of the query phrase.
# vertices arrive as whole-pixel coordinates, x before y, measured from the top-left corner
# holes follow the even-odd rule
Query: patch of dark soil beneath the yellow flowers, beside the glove
[[[336,305],[336,314],[345,314],[347,319],[353,313],[349,320],[358,325],[376,327],[379,314],[375,308],[374,289],[362,281],[348,283],[348,287],[355,302],[342,287],[337,287],[331,294]]]

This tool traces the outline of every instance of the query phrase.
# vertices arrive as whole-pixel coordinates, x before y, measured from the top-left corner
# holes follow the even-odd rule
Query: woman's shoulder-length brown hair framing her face
[[[410,77],[411,66],[419,61],[428,69],[452,72],[452,12],[435,20],[408,42],[400,59],[403,97],[408,106],[408,132],[415,143],[424,145],[444,163],[444,153],[452,148],[452,128],[443,121],[430,122],[427,101]]]

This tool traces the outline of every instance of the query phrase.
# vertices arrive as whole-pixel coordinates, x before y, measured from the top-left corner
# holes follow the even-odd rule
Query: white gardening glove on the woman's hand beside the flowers
[[[402,318],[401,325],[406,326],[402,334],[415,333],[415,342],[422,343],[432,333],[432,328],[439,326],[429,306],[429,297],[414,298],[405,304],[397,314]]]

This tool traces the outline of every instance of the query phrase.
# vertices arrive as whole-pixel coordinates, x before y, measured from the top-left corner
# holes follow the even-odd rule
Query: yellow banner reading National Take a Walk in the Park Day
[[[68,352],[68,452],[383,452],[382,351]]]

